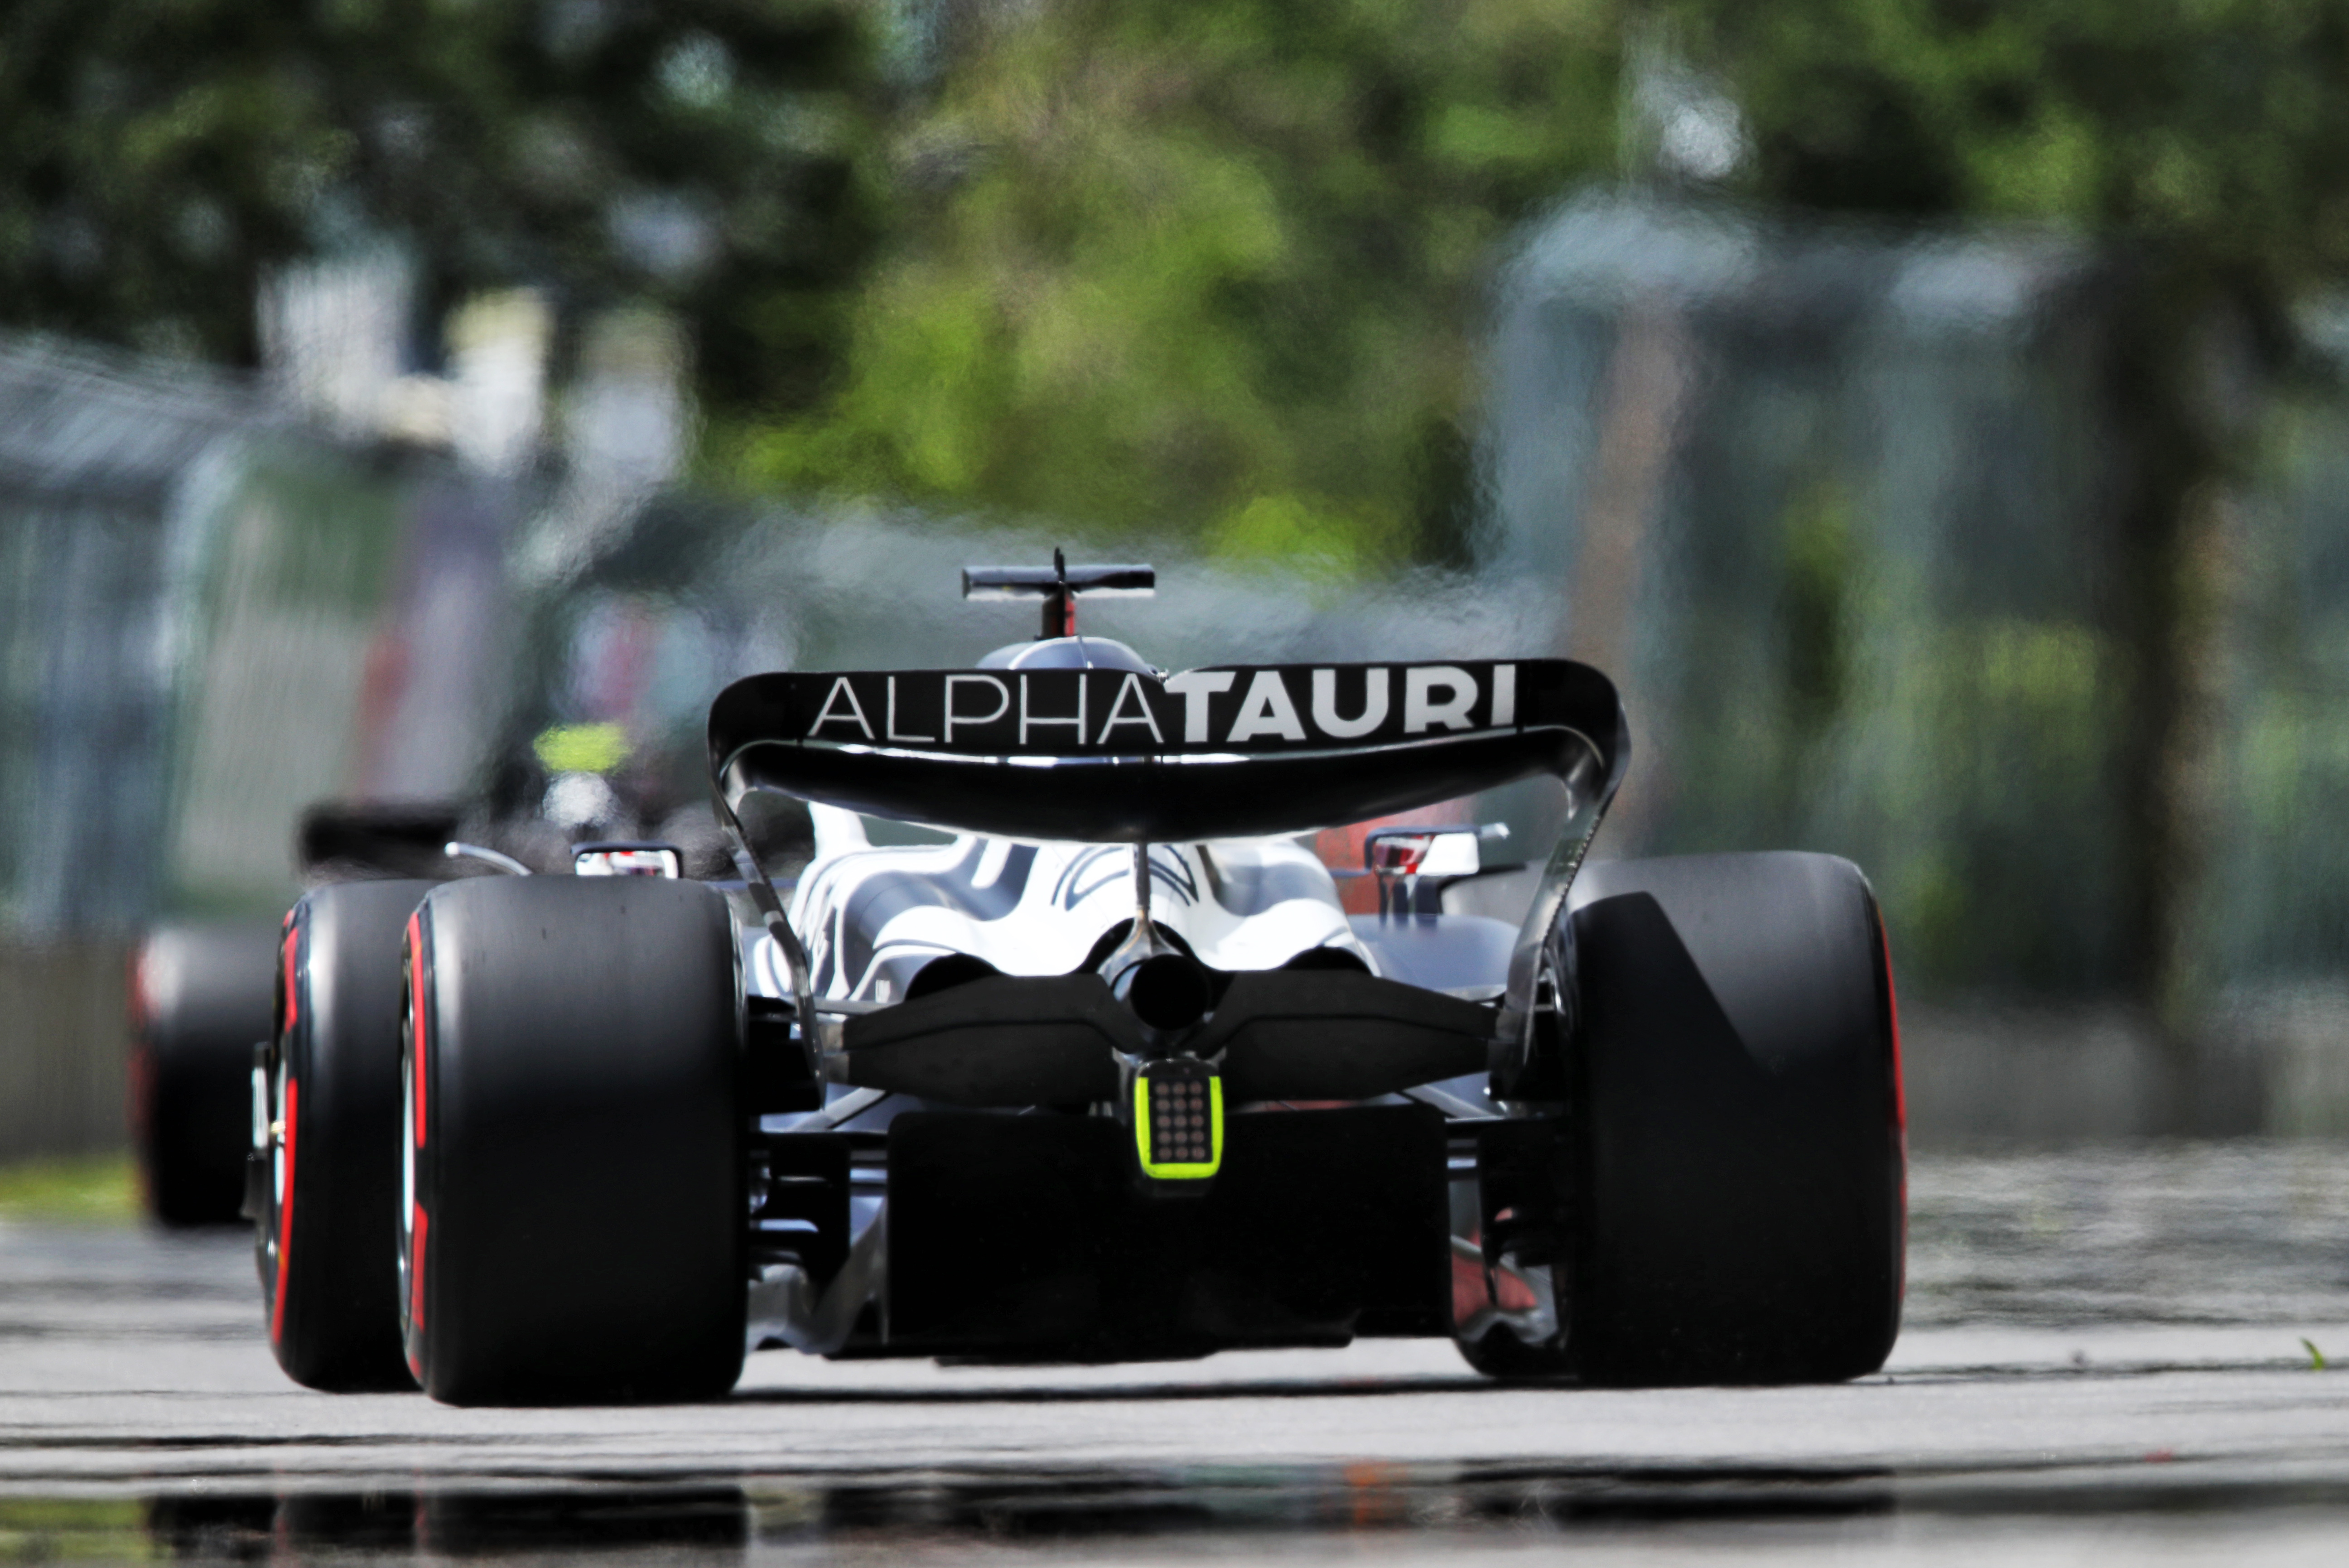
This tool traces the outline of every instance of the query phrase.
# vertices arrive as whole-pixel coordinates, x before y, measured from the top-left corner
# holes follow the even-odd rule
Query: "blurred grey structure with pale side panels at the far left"
[[[479,772],[517,491],[263,383],[0,345],[0,1150],[120,1136],[122,953]]]

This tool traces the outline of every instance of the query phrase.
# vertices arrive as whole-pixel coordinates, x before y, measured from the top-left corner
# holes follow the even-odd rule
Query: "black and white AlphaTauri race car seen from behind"
[[[1041,638],[726,688],[735,887],[599,845],[583,876],[308,894],[254,1073],[280,1364],[456,1404],[707,1399],[756,1347],[1882,1366],[1905,1131],[1860,873],[1583,866],[1630,761],[1602,674],[1167,674],[1076,631],[1078,596],[1151,582],[975,568]],[[1562,796],[1525,918],[1459,913],[1487,838],[1409,815],[1517,779]],[[792,885],[754,791],[810,803]],[[1308,847],[1334,824],[1374,824],[1381,913]]]

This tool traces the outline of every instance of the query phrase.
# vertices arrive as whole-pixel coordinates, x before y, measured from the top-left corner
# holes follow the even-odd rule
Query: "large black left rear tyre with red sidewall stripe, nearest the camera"
[[[714,1399],[742,1373],[742,991],[726,901],[474,878],[409,925],[402,1291],[446,1404]]]

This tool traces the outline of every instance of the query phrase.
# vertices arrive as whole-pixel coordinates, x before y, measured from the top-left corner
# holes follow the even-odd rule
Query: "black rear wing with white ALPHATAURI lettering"
[[[1520,1023],[1541,941],[1628,761],[1614,683],[1569,660],[768,674],[709,707],[728,826],[749,791],[773,789],[1003,838],[1193,843],[1550,775],[1567,826],[1510,962]]]

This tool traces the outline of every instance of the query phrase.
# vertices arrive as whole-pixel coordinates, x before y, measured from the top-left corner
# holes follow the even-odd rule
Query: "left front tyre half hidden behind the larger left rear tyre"
[[[413,1387],[399,1354],[399,932],[432,883],[338,883],[287,915],[256,1216],[270,1350],[327,1392]]]

